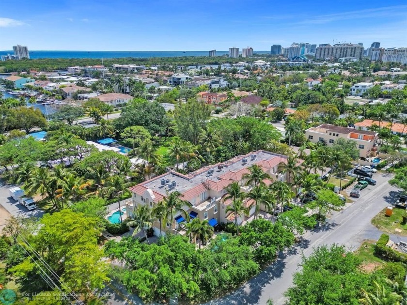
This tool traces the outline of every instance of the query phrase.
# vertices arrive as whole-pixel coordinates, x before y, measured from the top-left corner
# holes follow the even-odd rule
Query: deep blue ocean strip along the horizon
[[[258,54],[269,54],[270,51],[255,51]],[[14,54],[13,51],[0,51],[1,55]],[[229,54],[229,51],[216,51],[217,56]],[[30,51],[30,58],[149,58],[209,56],[209,51]]]

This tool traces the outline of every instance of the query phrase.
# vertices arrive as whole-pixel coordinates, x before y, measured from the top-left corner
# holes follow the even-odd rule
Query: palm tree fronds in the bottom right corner
[[[400,301],[403,297],[395,292],[386,290],[384,285],[373,282],[375,286],[374,292],[367,292],[362,289],[363,297],[359,299],[359,303],[362,305],[400,305]]]

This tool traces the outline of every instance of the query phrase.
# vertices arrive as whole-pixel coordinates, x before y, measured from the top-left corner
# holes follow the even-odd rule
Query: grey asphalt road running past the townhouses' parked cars
[[[282,305],[285,301],[283,293],[291,285],[293,274],[299,270],[301,254],[309,256],[313,247],[322,244],[344,244],[354,251],[363,240],[378,239],[381,232],[370,221],[394,201],[397,190],[387,183],[391,178],[389,175],[376,173],[373,178],[377,180],[376,186],[369,185],[361,191],[360,198],[354,203],[340,212],[334,212],[327,225],[317,231],[307,232],[300,244],[282,253],[261,274],[231,294],[207,305],[265,305],[268,299],[272,299],[276,305]],[[391,239],[400,241],[397,236],[391,236]],[[406,241],[407,238],[403,240]]]

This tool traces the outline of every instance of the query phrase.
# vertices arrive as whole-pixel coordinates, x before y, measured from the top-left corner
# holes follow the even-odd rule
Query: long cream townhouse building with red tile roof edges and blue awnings
[[[286,175],[282,174],[282,165],[287,163],[287,156],[257,151],[246,155],[240,155],[228,161],[216,165],[203,167],[195,172],[183,175],[181,173],[170,171],[136,186],[130,188],[133,193],[133,206],[127,206],[131,212],[139,205],[148,205],[153,207],[161,201],[167,193],[178,191],[183,196],[182,199],[188,200],[192,207],[185,207],[190,218],[199,217],[201,220],[208,219],[211,224],[227,222],[229,213],[226,213],[228,202],[223,202],[225,188],[237,181],[241,184],[241,190],[248,192],[252,185],[245,186],[243,175],[249,173],[249,167],[257,164],[268,173],[272,181],[265,181],[271,184],[273,181],[285,181]],[[246,204],[248,204],[246,202]],[[250,215],[254,213],[254,207],[250,209]],[[172,230],[175,233],[184,234],[179,229],[179,224],[185,221],[185,215],[177,213],[174,215]],[[239,219],[240,224],[243,219]],[[162,224],[163,235],[169,231],[170,224]],[[157,236],[160,234],[159,222],[153,225]]]

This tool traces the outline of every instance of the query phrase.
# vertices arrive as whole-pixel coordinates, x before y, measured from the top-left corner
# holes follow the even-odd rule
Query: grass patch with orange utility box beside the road
[[[393,208],[393,214],[389,217],[385,215],[386,209],[383,209],[373,219],[372,224],[385,233],[407,236],[407,225],[402,225],[402,215],[406,215],[405,209]],[[396,232],[395,229],[401,229]]]

